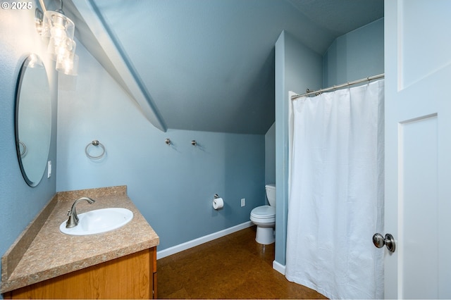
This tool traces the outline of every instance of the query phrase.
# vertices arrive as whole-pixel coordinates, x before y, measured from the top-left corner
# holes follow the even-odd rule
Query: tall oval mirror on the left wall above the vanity
[[[51,139],[51,98],[47,72],[39,56],[28,56],[16,90],[16,149],[20,170],[30,187],[47,167]]]

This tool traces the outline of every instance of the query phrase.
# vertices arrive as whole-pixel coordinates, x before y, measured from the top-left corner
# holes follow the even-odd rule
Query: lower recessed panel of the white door
[[[403,298],[428,299],[438,294],[437,115],[399,125],[398,239]],[[424,159],[424,158],[428,159]],[[421,215],[431,218],[422,222]],[[420,216],[420,218],[419,218]],[[410,263],[414,262],[414,263]],[[410,285],[410,282],[422,282]]]

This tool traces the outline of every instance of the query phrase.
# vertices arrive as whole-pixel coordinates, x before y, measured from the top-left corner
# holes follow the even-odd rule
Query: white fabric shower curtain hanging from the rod
[[[383,80],[292,102],[285,276],[330,299],[381,299]]]

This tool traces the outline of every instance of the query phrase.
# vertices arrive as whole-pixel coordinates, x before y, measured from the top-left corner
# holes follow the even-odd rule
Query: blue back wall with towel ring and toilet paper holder
[[[249,221],[265,203],[264,135],[161,132],[82,45],[77,52],[75,90],[58,94],[58,191],[127,185],[159,251]],[[99,161],[85,156],[93,139],[106,147]],[[211,206],[216,193],[221,211]]]

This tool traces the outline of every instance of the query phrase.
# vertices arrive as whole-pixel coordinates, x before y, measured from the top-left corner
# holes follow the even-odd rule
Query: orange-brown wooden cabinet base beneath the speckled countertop
[[[156,299],[156,247],[6,292],[4,299]]]

